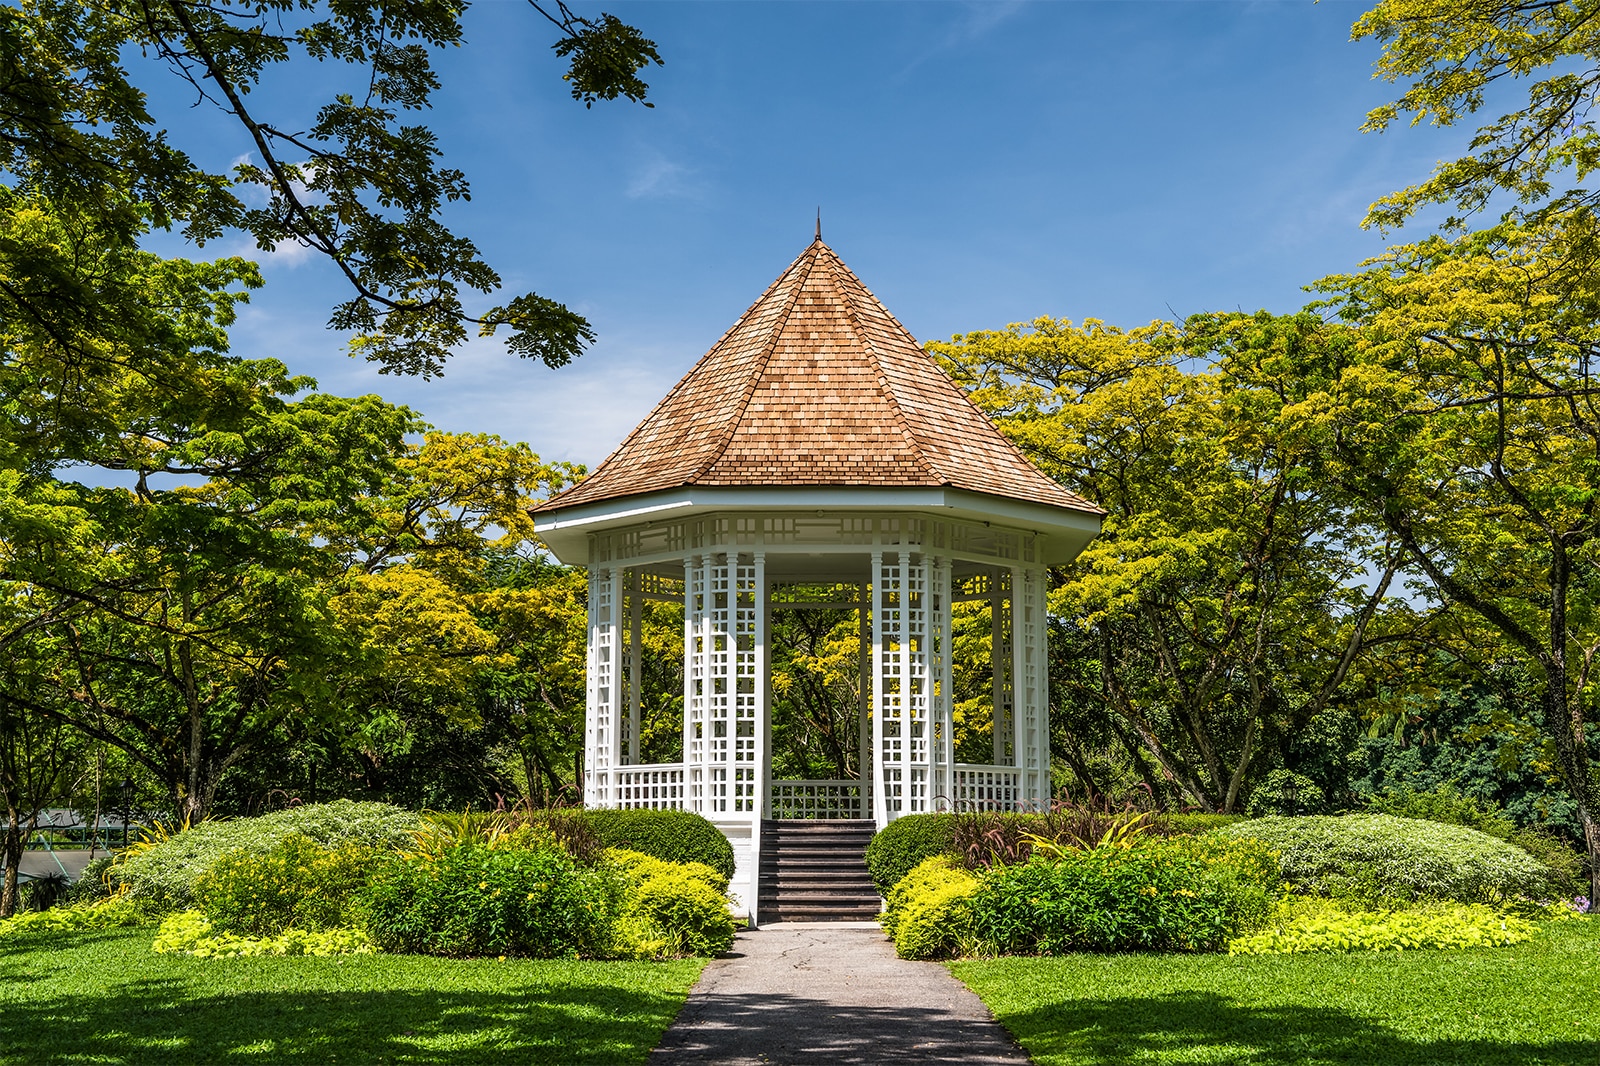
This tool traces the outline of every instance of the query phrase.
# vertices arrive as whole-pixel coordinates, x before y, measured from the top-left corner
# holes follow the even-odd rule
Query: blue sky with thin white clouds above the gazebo
[[[819,205],[922,339],[1293,311],[1384,246],[1365,206],[1466,134],[1358,131],[1394,90],[1376,45],[1349,40],[1365,6],[1339,0],[574,5],[602,8],[656,40],[654,109],[586,110],[550,27],[478,0],[427,117],[474,186],[450,222],[509,291],[592,320],[582,359],[552,371],[475,343],[442,379],[381,376],[323,328],[339,280],[293,253],[266,256],[235,351],[592,466],[805,248]],[[296,72],[256,107],[306,122],[330,85]],[[179,94],[154,102],[205,163],[248,150]],[[194,254],[218,251],[250,246]]]

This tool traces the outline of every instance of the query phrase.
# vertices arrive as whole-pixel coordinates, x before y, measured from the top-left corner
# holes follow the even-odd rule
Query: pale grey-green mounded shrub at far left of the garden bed
[[[194,884],[227,852],[267,852],[294,834],[323,847],[360,844],[397,848],[411,844],[411,834],[421,824],[421,818],[408,810],[352,800],[290,807],[261,818],[203,821],[128,855],[117,864],[115,877],[136,898],[181,909],[194,903]]]

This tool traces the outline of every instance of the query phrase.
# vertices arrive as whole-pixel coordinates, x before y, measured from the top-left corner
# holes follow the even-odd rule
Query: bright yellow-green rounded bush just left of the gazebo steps
[[[613,848],[606,860],[629,880],[618,951],[659,959],[717,956],[733,946],[728,879],[704,863],[667,863]]]

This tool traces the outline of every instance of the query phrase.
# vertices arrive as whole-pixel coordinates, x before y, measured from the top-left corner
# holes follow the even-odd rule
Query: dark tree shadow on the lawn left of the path
[[[3,984],[59,975],[50,957],[5,962]],[[603,976],[517,988],[510,970],[504,991],[229,984],[206,988],[203,973],[134,976],[98,996],[11,997],[0,1008],[0,1061],[613,1064],[643,1061],[682,1002]]]

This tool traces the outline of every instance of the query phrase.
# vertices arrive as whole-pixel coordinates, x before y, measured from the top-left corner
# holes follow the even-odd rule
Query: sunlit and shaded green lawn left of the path
[[[638,1063],[704,967],[206,960],[154,935],[0,940],[0,1063]]]

